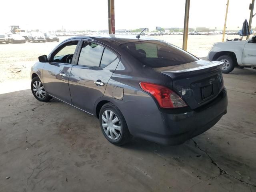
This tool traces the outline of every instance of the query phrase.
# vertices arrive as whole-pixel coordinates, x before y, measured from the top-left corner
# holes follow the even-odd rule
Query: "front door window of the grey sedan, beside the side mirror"
[[[52,55],[52,62],[71,64],[78,41],[69,42]]]

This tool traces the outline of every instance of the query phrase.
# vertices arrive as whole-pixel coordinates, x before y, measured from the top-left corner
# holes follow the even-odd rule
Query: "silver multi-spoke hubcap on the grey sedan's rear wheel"
[[[121,134],[121,124],[114,112],[106,110],[102,114],[102,127],[105,134],[112,140],[116,140]]]

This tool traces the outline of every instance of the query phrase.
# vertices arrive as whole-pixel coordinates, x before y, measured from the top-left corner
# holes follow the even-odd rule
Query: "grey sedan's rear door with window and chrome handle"
[[[84,40],[80,46],[69,78],[70,94],[74,106],[93,114],[94,104],[104,95],[119,58],[99,42]]]

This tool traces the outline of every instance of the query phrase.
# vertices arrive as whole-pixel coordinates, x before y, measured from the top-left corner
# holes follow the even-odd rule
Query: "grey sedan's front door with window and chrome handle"
[[[43,81],[46,92],[70,104],[72,102],[68,78],[74,64],[72,58],[76,52],[77,45],[78,40],[71,40],[60,45],[60,47],[52,52],[49,58],[50,62],[46,63],[43,69]]]

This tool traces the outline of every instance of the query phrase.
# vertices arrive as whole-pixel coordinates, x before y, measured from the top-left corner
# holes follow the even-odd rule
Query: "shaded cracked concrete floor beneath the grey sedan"
[[[224,81],[228,114],[179,146],[114,146],[94,116],[30,90],[0,94],[0,191],[256,191],[256,70]]]

